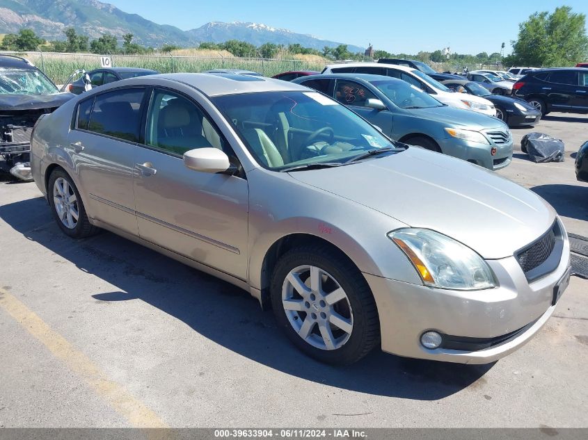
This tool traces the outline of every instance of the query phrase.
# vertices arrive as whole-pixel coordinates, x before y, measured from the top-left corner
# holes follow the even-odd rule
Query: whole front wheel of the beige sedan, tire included
[[[365,278],[324,245],[297,247],[276,263],[270,287],[278,326],[310,357],[358,361],[379,344],[379,316]]]

